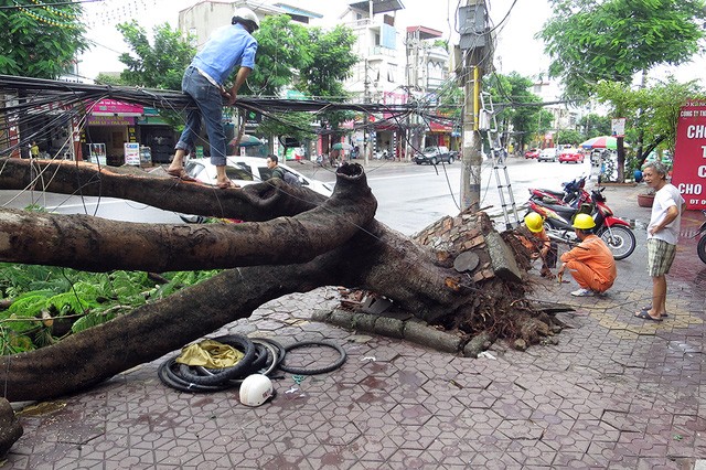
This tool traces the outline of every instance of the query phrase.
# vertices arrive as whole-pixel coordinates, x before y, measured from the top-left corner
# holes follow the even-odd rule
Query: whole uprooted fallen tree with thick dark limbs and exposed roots
[[[279,180],[214,190],[90,163],[3,160],[3,190],[41,184],[43,191],[248,221],[152,225],[0,211],[3,261],[94,271],[236,268],[55,345],[1,357],[7,398],[85,389],[246,318],[271,299],[327,285],[378,292],[396,308],[469,339],[482,333],[536,343],[552,334],[552,319],[524,300],[514,256],[483,213],[440,221],[415,241],[374,220],[376,201],[360,165],[345,165],[336,177],[334,194],[325,200]],[[454,269],[454,259],[468,252],[478,256],[478,266]]]

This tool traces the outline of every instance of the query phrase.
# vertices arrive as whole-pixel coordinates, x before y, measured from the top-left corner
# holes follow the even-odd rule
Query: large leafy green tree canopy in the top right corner
[[[631,83],[637,72],[677,65],[698,52],[703,0],[550,0],[553,17],[537,34],[549,73],[570,96],[599,79]]]

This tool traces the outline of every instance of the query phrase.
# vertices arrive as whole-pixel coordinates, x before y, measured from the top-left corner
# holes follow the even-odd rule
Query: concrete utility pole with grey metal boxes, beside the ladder
[[[463,148],[461,167],[461,210],[478,211],[481,199],[480,94],[483,63],[491,61],[486,33],[485,0],[467,0],[459,9],[460,47],[463,53]],[[481,60],[482,58],[482,60]]]

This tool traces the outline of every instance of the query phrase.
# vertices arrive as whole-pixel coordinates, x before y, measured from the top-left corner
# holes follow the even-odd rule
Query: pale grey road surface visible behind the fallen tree
[[[287,164],[308,177],[321,181],[335,181],[335,174],[330,168],[320,168],[311,162]],[[527,200],[527,188],[560,190],[561,182],[589,172],[588,161],[582,164],[561,164],[524,158],[507,160],[507,174],[517,207]],[[379,204],[376,218],[405,235],[417,233],[440,217],[454,215],[460,210],[461,164],[458,161],[450,165],[432,167],[374,160],[368,163],[366,174]],[[500,214],[502,210],[498,183],[492,164],[488,160],[483,162],[481,177],[481,207],[490,206],[488,212],[491,215]],[[502,169],[500,177],[504,184]],[[69,196],[40,191],[0,191],[0,202],[6,207],[24,209],[30,204],[38,204],[60,214],[88,214],[116,221],[182,223],[174,212],[110,197]],[[510,204],[511,201],[507,200],[506,203]],[[520,216],[524,214],[524,211],[518,212]],[[503,218],[500,217],[498,221],[502,223]]]

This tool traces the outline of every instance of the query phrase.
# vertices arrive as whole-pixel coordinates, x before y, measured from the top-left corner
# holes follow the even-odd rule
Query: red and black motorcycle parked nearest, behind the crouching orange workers
[[[544,217],[547,233],[569,243],[577,242],[574,227],[571,227],[574,216],[579,212],[590,214],[596,221],[596,235],[606,242],[616,259],[624,259],[632,255],[635,249],[635,235],[632,233],[628,222],[613,215],[612,210],[606,204],[606,196],[603,196],[602,191],[603,189],[592,190],[589,194],[586,190],[581,190],[576,207],[548,204],[532,197],[527,205],[531,211]]]

